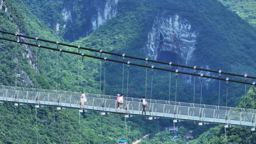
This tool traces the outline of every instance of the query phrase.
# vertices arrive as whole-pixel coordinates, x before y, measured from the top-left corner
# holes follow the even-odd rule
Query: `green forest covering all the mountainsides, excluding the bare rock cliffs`
[[[122,0],[124,2],[124,0]],[[122,2],[121,1],[121,2]],[[24,2],[24,3],[23,3]],[[153,6],[166,7],[167,3],[171,3],[172,7],[180,10],[193,10],[195,12],[204,13],[221,13],[223,15],[237,16],[234,12],[230,12],[221,3],[216,1],[205,0],[188,0],[184,1],[167,1],[160,0],[155,3],[153,0],[141,0],[141,1],[125,1],[126,3],[135,4],[153,4]],[[223,1],[222,1],[223,2]],[[228,1],[226,1],[228,4]],[[242,3],[243,2],[243,3]],[[235,7],[239,9],[243,8],[240,4],[244,5],[246,1],[239,2]],[[39,4],[40,3],[40,4]],[[224,2],[223,2],[224,3]],[[61,9],[70,4],[70,7],[75,6],[75,12],[77,12],[77,19],[74,25],[68,28],[68,35],[64,36],[64,32],[58,36],[55,33],[55,24],[60,21]],[[4,1],[4,6],[8,7],[12,13],[13,22],[11,22],[10,15],[0,10],[0,29],[4,31],[10,31],[16,33],[17,29],[22,34],[26,34],[33,37],[40,37],[43,39],[51,39],[54,41],[65,42],[67,37],[73,37],[74,31],[81,31],[82,28],[88,24],[88,18],[81,17],[85,11],[81,11],[85,6],[80,6],[79,3],[64,3],[61,0],[53,1],[40,1],[40,0],[8,0]],[[33,6],[33,7],[32,7]],[[122,6],[122,5],[120,5]],[[134,8],[134,6],[127,6]],[[251,11],[249,13],[255,13],[253,5],[246,4]],[[94,49],[103,49],[111,52],[126,53],[127,55],[134,55],[144,57],[146,52],[144,51],[145,41],[147,34],[151,30],[153,21],[156,18],[155,13],[148,11],[155,10],[150,7],[135,7],[146,11],[136,11],[128,9],[118,9],[118,14],[115,18],[110,19],[106,24],[91,33],[88,37],[81,38],[73,45],[81,45]],[[253,49],[256,42],[255,28],[250,24],[232,23],[226,21],[217,21],[209,19],[221,19],[217,15],[202,15],[200,13],[188,13],[176,12],[172,10],[163,10],[165,13],[177,13],[183,18],[186,18],[192,24],[193,30],[199,33],[196,50],[194,51],[194,57],[188,65],[206,66],[210,69],[222,69],[223,71],[231,71],[235,73],[250,72],[250,74],[256,73],[254,67],[256,67],[256,51]],[[246,14],[236,10],[240,16],[255,16],[252,14]],[[89,14],[88,14],[89,15]],[[161,14],[159,14],[161,15]],[[188,15],[188,16],[185,16]],[[164,15],[171,16],[171,15]],[[204,17],[193,18],[193,17]],[[207,20],[208,19],[208,20]],[[238,19],[238,18],[236,18]],[[225,18],[227,21],[234,21],[233,18]],[[243,22],[243,19],[239,18],[239,21]],[[250,21],[253,22],[253,21]],[[7,35],[0,34],[7,38],[15,39]],[[65,40],[64,40],[65,39]],[[33,42],[27,40],[28,42]],[[40,45],[47,45],[39,42]],[[56,45],[50,45],[56,47]],[[31,50],[31,61],[36,63],[36,49],[28,47]],[[60,46],[60,48],[77,51],[74,48],[66,48]],[[0,43],[0,85],[14,86],[15,80],[15,43],[2,41]],[[35,82],[35,70],[28,62],[25,48],[19,46],[18,48],[18,73],[23,74],[18,77],[18,86],[34,87]],[[91,55],[99,55],[98,53],[88,52],[83,50],[82,52]],[[56,77],[57,77],[57,55],[59,52],[53,52],[51,50],[40,50],[40,68],[39,68],[39,88],[55,89]],[[115,58],[115,56],[103,55],[108,58]],[[63,53],[61,58],[61,80],[60,87],[58,89],[67,91],[79,91],[80,81],[82,77],[82,89],[90,93],[99,93],[100,87],[100,61],[91,58],[85,58],[83,61],[84,67],[82,68],[81,57],[78,60],[78,56],[69,55]],[[121,60],[121,58],[119,58]],[[130,59],[126,59],[130,60]],[[78,62],[80,61],[80,63]],[[138,62],[138,61],[132,61]],[[80,67],[78,67],[78,63]],[[144,64],[144,63],[141,63]],[[152,65],[152,63],[150,63]],[[104,68],[104,67],[103,67]],[[83,76],[78,77],[78,73],[81,74],[83,69]],[[25,72],[25,73],[23,73]],[[151,82],[150,73],[147,83]],[[168,99],[169,92],[169,73],[154,71],[153,78],[153,93],[154,99]],[[103,76],[103,73],[102,73]],[[179,83],[177,89],[177,101],[191,102],[192,101],[192,85],[183,82],[182,77],[179,75]],[[139,97],[144,95],[145,91],[145,69],[132,66],[129,70],[129,83],[128,94],[126,93],[127,87],[127,67],[125,65],[125,95],[132,97]],[[101,77],[101,80],[103,77]],[[171,76],[171,99],[174,99],[174,83],[175,76]],[[199,84],[199,82],[196,82]],[[209,85],[213,87],[203,88],[204,104],[216,104],[218,97],[218,87],[216,81],[210,82]],[[109,95],[115,95],[122,91],[122,64],[114,64],[107,62],[106,64],[106,93]],[[102,87],[101,87],[102,88]],[[199,89],[199,88],[198,88]],[[229,103],[228,105],[235,106],[239,104],[240,97],[243,95],[244,87],[242,85],[232,84],[229,87]],[[222,83],[221,89],[221,104],[225,101],[225,83]],[[147,96],[150,96],[150,85],[147,86]],[[199,102],[199,93],[196,93],[196,103]],[[149,98],[149,97],[147,97]],[[247,93],[246,99],[252,102],[252,90]],[[243,98],[241,98],[240,107],[243,107]],[[251,103],[247,103],[246,107],[252,107]],[[35,143],[35,113],[34,108],[31,105],[22,105],[18,108],[19,115],[16,115],[15,108],[8,103],[0,104],[0,143],[4,144],[22,144],[22,143]],[[79,128],[78,128],[78,112],[73,109],[65,109],[60,111],[60,129],[58,125],[58,114],[55,108],[45,107],[38,109],[38,123],[39,123],[39,141],[40,143],[79,143]],[[82,143],[84,144],[96,144],[101,143],[101,119],[98,113],[88,112],[81,116],[81,128],[82,128]],[[103,140],[106,143],[115,143],[120,138],[125,138],[124,119],[122,116],[116,114],[109,114],[103,119]],[[115,125],[117,123],[117,125]],[[165,123],[170,124],[168,120]],[[128,126],[131,126],[131,132],[128,134],[128,141],[133,141],[140,138],[142,135],[148,132],[155,133],[156,126],[155,121],[149,123],[147,128],[146,120],[140,117],[132,117],[128,119]],[[211,126],[211,125],[210,125]],[[210,127],[209,126],[209,127]],[[186,123],[185,128],[191,129],[193,123]],[[182,128],[183,129],[183,128]],[[180,135],[186,133],[180,130]],[[200,135],[206,131],[208,127],[196,127],[195,134]],[[62,135],[62,136],[61,136]],[[245,144],[255,141],[255,134],[250,133],[250,129],[232,127],[227,130],[228,143],[233,144]],[[109,139],[113,138],[113,140]],[[150,141],[143,140],[144,144],[174,143],[171,140],[168,132],[162,132],[155,134]],[[179,140],[177,143],[184,143],[185,140]],[[193,143],[202,144],[220,144],[225,142],[225,134],[223,126],[215,127],[210,131],[202,134]]]

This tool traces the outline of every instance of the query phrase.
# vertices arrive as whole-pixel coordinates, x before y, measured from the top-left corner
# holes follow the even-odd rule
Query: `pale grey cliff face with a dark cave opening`
[[[147,36],[147,55],[159,61],[188,64],[196,49],[198,34],[195,28],[179,15],[157,16]]]

